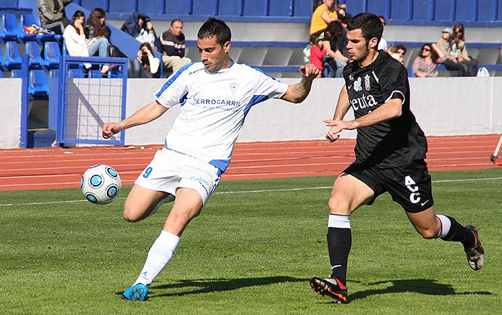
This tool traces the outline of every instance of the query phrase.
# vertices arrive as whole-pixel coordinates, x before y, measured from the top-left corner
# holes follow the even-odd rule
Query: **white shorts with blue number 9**
[[[134,182],[136,185],[176,196],[177,188],[191,188],[205,205],[220,182],[220,170],[195,157],[162,148]]]

